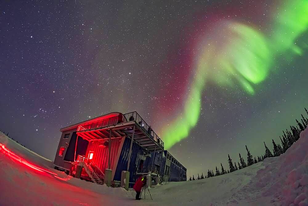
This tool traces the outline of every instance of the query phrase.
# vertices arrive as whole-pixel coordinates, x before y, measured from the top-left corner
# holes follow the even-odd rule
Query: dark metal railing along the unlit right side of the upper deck
[[[156,141],[161,147],[164,148],[164,142],[160,139],[160,137],[152,130],[152,128],[144,121],[144,119],[141,118],[141,116],[136,112],[130,112],[127,114],[124,114],[124,121],[131,122],[135,121],[141,129],[143,129],[146,133],[150,135],[150,138],[152,138],[154,141]]]

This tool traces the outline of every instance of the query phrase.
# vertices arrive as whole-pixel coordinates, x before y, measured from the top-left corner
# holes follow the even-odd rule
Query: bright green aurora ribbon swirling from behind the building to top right
[[[267,78],[275,56],[286,50],[302,54],[302,49],[295,44],[295,40],[307,30],[308,0],[285,2],[273,18],[274,27],[270,34],[262,34],[244,24],[228,22],[227,26],[217,29],[214,40],[205,40],[207,46],[199,56],[184,111],[162,131],[165,149],[186,138],[196,126],[206,82],[223,87],[240,85],[249,95],[254,95],[253,85]],[[218,35],[221,33],[220,29],[225,36]],[[217,45],[216,42],[221,41],[224,46]],[[284,55],[293,56],[293,53]]]

